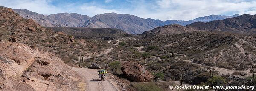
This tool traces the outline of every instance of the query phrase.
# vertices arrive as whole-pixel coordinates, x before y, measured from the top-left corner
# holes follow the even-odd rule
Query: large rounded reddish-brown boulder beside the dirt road
[[[125,77],[135,82],[149,82],[153,79],[153,75],[150,72],[134,62],[124,63],[121,70]]]

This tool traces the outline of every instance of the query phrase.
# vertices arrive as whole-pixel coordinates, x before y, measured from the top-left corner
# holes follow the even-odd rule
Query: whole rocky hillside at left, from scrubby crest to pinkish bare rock
[[[0,12],[0,90],[78,91],[80,77],[49,47],[68,46],[74,39],[42,28],[12,9],[0,7]]]

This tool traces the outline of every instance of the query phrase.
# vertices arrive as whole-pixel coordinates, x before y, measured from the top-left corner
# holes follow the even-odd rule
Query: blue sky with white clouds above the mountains
[[[39,14],[116,12],[160,20],[192,20],[197,17],[256,14],[256,0],[0,0],[0,6],[28,9]]]

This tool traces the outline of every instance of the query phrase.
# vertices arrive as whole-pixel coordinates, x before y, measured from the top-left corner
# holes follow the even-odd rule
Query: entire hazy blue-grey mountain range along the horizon
[[[21,17],[26,19],[33,19],[41,26],[47,27],[88,27],[88,28],[117,28],[121,29],[130,34],[141,34],[144,31],[149,31],[159,26],[169,24],[179,24],[186,26],[194,22],[209,22],[212,20],[220,20],[231,17],[239,16],[235,14],[233,16],[220,16],[210,15],[205,17],[199,17],[189,21],[183,20],[155,20],[155,19],[144,19],[129,14],[116,14],[116,13],[105,13],[89,17],[87,15],[81,15],[77,13],[58,13],[43,15],[38,14],[26,9],[14,9]]]

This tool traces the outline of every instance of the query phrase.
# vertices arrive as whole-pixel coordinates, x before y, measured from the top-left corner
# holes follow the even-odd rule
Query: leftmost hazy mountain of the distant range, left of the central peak
[[[82,22],[86,22],[90,19],[87,15],[81,15],[76,13],[59,13],[51,15],[42,15],[26,9],[14,9],[14,11],[20,14],[21,17],[26,19],[33,19],[41,26],[58,26],[58,27],[76,27]]]

